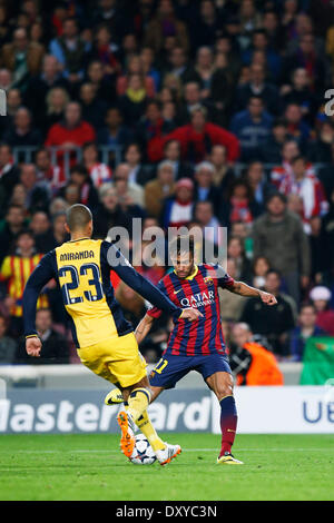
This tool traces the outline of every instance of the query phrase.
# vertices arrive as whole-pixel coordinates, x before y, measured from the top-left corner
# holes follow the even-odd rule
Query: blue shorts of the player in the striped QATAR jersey
[[[166,354],[151,371],[149,383],[154,387],[174,388],[190,371],[197,371],[203,379],[219,372],[232,374],[227,357],[218,353],[206,356]]]

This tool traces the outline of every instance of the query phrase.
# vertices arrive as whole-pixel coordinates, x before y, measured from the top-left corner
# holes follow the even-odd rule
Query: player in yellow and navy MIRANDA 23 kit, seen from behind
[[[91,239],[92,217],[80,204],[67,213],[70,241],[49,251],[36,267],[23,293],[26,349],[38,357],[41,341],[36,330],[36,305],[40,290],[55,278],[62,293],[63,305],[71,318],[72,336],[81,362],[99,376],[117,385],[125,399],[118,415],[120,447],[130,457],[135,446],[136,425],[148,438],[161,465],[180,453],[179,445],[163,442],[147,415],[151,391],[146,364],[140,356],[132,326],[115,299],[110,270],[154,306],[174,317],[195,320],[200,313],[180,308],[157,287],[139,275],[110,243]]]

